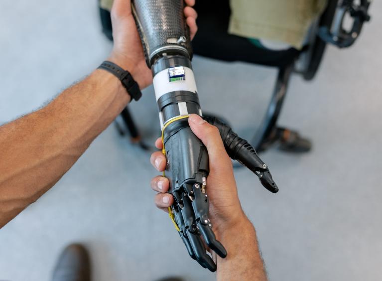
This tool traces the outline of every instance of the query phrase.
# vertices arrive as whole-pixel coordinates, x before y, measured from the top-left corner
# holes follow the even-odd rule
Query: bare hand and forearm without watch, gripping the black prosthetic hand
[[[224,148],[219,130],[195,114],[189,117],[188,123],[192,132],[202,140],[208,150],[208,217],[216,239],[228,253],[226,258],[221,258],[210,251],[218,265],[216,279],[266,281],[255,228],[240,205],[232,162]],[[155,146],[159,149],[163,147],[161,139],[156,140]],[[166,158],[161,151],[152,153],[150,161],[158,171],[163,171],[166,167]],[[168,179],[162,176],[154,177],[151,181],[152,189],[159,192],[155,196],[155,204],[165,211],[174,203],[173,196],[166,193],[169,186]]]

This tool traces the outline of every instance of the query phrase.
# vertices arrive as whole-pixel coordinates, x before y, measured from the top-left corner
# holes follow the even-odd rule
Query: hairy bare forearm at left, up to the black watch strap
[[[96,70],[41,110],[0,127],[0,227],[52,187],[129,99],[116,77]]]

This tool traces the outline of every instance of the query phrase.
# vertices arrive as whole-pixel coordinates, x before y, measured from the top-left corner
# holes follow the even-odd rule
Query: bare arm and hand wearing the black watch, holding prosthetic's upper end
[[[195,35],[194,0],[184,9]],[[129,71],[141,89],[152,83],[130,0],[114,0],[114,48],[109,60]],[[39,111],[0,127],[0,228],[51,188],[130,101],[104,70],[64,91]]]

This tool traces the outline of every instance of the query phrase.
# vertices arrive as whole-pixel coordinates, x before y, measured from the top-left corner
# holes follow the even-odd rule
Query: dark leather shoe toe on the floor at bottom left
[[[71,244],[58,258],[52,281],[90,281],[88,251],[80,244]]]

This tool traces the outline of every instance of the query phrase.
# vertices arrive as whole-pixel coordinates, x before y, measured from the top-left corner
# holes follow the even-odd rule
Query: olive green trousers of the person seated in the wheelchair
[[[208,0],[199,0],[208,1]],[[328,0],[230,0],[229,33],[288,43],[301,49],[309,26]],[[101,0],[110,10],[113,0]]]

